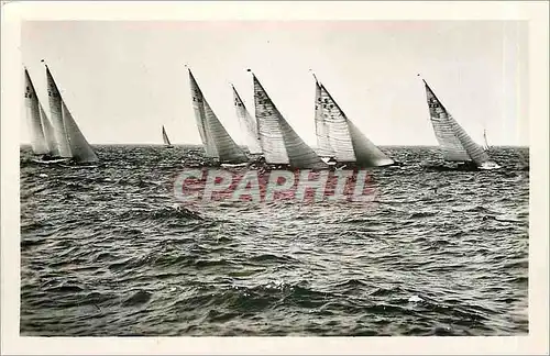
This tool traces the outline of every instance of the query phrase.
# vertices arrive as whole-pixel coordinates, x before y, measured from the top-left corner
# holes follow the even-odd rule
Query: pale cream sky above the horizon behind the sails
[[[254,114],[251,68],[315,146],[311,68],[375,144],[437,145],[421,74],[477,143],[485,127],[492,145],[528,145],[527,35],[513,21],[33,21],[22,65],[48,111],[46,60],[91,144],[161,144],[163,124],[200,143],[187,64],[239,143],[230,82]]]

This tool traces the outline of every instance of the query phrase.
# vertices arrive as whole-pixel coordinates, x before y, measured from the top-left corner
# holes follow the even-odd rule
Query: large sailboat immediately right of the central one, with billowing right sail
[[[340,164],[383,167],[395,162],[348,119],[327,88],[316,80],[315,123],[319,154]]]

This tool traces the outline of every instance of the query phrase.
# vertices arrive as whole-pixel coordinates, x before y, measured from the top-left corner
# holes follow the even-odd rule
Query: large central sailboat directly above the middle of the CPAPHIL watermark
[[[328,165],[283,118],[256,76],[252,74],[252,77],[257,132],[265,163],[292,168],[328,168]]]

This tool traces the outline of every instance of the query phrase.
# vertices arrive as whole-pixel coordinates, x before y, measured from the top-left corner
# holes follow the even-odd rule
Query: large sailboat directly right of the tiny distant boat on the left
[[[226,166],[248,163],[249,158],[242,148],[239,147],[229,135],[226,127],[223,127],[218,116],[210,108],[210,104],[205,99],[191,70],[188,69],[188,71],[195,119],[197,121],[200,138],[205,146],[206,156],[217,159],[221,164],[226,164]]]

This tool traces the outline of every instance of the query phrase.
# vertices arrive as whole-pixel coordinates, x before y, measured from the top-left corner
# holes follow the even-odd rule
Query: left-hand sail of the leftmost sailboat
[[[31,76],[25,68],[25,113],[26,122],[29,125],[29,133],[31,138],[31,147],[36,155],[43,155],[51,153],[47,145],[47,140],[44,135],[42,107],[40,104],[38,98],[36,97],[36,91],[31,80]]]

